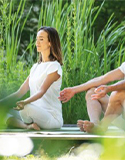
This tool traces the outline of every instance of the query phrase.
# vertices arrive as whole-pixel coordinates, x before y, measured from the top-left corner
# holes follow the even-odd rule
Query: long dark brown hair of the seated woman
[[[38,31],[44,30],[48,34],[48,40],[51,44],[50,47],[50,55],[49,59],[50,61],[57,60],[61,65],[62,63],[62,51],[61,51],[61,44],[58,32],[55,28],[52,27],[41,27]],[[42,62],[42,55],[39,56],[39,63]]]

